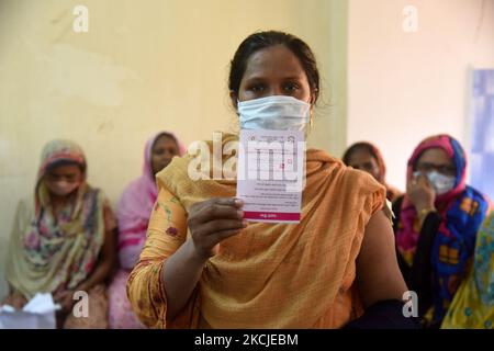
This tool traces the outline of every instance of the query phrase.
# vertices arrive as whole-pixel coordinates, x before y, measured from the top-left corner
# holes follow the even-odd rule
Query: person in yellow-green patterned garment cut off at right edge
[[[494,213],[476,236],[473,265],[449,307],[444,329],[494,329]]]

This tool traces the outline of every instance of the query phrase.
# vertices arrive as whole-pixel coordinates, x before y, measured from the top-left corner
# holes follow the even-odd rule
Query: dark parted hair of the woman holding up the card
[[[240,81],[247,68],[249,57],[261,49],[276,45],[284,45],[299,58],[307,76],[312,101],[315,103],[319,95],[319,71],[313,52],[307,44],[296,36],[277,31],[254,33],[242,42],[231,63],[228,77],[229,91],[238,95]]]

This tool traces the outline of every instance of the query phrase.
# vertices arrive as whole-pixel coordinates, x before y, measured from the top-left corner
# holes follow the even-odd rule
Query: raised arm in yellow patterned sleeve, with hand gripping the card
[[[211,199],[186,213],[173,194],[160,189],[139,262],[127,282],[131,304],[146,326],[177,322],[216,245],[244,227],[239,206],[235,199]]]

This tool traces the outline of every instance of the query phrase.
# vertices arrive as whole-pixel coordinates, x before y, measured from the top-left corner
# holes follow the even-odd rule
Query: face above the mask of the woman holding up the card
[[[254,53],[240,81],[238,97],[247,101],[271,95],[289,95],[311,103],[311,88],[299,58],[284,45],[276,45]]]

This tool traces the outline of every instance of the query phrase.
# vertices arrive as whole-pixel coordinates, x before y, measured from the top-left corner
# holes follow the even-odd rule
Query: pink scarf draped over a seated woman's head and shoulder
[[[186,154],[184,145],[172,134],[160,132],[147,140],[144,149],[143,174],[125,189],[119,202],[119,258],[124,269],[132,269],[138,260],[146,239],[147,223],[158,196],[155,176],[151,169],[151,149],[164,134],[171,135],[178,144],[179,156]]]

